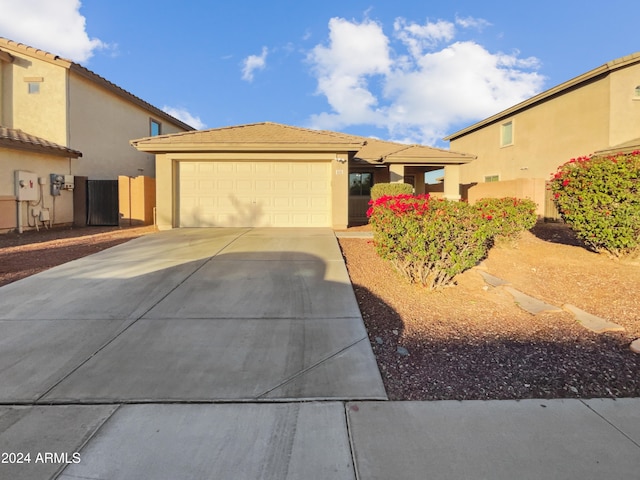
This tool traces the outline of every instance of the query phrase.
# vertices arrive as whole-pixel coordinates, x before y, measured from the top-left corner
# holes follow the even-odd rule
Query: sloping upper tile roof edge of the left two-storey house
[[[22,43],[18,43],[18,42],[14,42],[13,40],[9,40],[7,38],[3,38],[0,37],[0,52],[3,52],[3,50],[1,50],[1,48],[6,48],[7,50],[13,51],[13,52],[21,52],[25,55],[29,55],[29,56],[33,56],[33,57],[38,57],[42,60],[45,60],[47,62],[53,63],[55,65],[60,65],[61,67],[64,67],[68,70],[71,70],[79,75],[82,75],[83,77],[87,78],[88,80],[92,81],[93,83],[102,86],[103,88],[106,88],[107,90],[111,91],[112,93],[115,93],[116,95],[124,98],[125,100],[130,101],[131,103],[134,103],[136,105],[138,105],[139,107],[144,108],[145,110],[148,110],[149,112],[153,113],[154,115],[156,115],[157,117],[171,122],[185,130],[193,130],[193,127],[190,125],[187,125],[186,123],[184,123],[182,120],[179,120],[175,117],[173,117],[172,115],[169,115],[168,113],[160,110],[157,107],[154,107],[153,105],[151,105],[148,102],[145,102],[144,100],[142,100],[139,97],[136,97],[135,95],[133,95],[132,93],[126,91],[125,89],[119,87],[118,85],[116,85],[113,82],[110,82],[109,80],[107,80],[104,77],[101,77],[100,75],[98,75],[97,73],[92,72],[91,70],[89,70],[88,68],[83,67],[82,65],[80,65],[79,63],[75,63],[71,60],[68,60],[66,58],[62,58],[58,55],[54,55],[53,53],[49,53],[46,52],[44,50],[40,50],[38,48],[34,48],[34,47],[30,47],[29,45],[24,45]],[[8,53],[8,52],[6,52]]]

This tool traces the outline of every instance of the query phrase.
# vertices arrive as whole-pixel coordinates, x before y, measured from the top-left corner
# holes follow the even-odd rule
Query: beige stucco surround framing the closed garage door
[[[331,217],[334,228],[348,223],[349,167],[337,159],[348,159],[346,152],[322,153],[175,153],[156,155],[156,222],[160,230],[178,225],[178,172],[181,161],[300,161],[331,163]]]

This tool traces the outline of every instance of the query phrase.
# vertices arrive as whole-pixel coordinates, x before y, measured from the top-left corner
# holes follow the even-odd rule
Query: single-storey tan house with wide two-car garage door
[[[271,122],[131,143],[156,156],[160,229],[344,228],[366,222],[374,183],[411,183],[423,193],[425,172],[444,168],[445,196],[458,199],[458,169],[474,158]]]

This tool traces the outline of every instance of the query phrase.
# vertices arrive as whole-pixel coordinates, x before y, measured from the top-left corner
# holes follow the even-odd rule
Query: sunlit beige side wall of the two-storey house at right
[[[489,175],[549,179],[571,158],[608,144],[609,104],[605,78],[452,140],[451,150],[477,156],[460,167],[460,182],[481,183]],[[501,147],[501,125],[510,120],[514,141]]]

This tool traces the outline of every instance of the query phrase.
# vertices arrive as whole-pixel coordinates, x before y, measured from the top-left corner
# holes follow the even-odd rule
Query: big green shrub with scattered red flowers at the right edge
[[[640,245],[640,152],[571,159],[550,188],[564,221],[597,252],[637,254]]]

